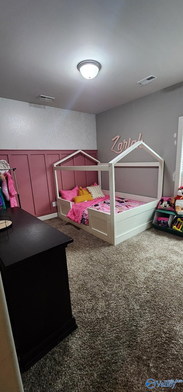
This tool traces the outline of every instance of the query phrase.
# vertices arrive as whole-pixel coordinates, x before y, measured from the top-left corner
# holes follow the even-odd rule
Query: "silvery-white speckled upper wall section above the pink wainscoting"
[[[0,149],[96,149],[95,115],[0,98]]]

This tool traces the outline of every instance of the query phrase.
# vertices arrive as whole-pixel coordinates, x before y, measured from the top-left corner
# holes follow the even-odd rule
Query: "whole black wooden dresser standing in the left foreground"
[[[13,207],[0,231],[0,271],[20,368],[25,371],[77,328],[65,248],[73,240]]]

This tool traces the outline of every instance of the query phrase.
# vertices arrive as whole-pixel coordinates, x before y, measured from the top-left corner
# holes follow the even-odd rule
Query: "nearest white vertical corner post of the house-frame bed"
[[[111,243],[112,245],[116,245],[114,163],[109,163],[109,196],[110,196],[110,210],[111,210]]]

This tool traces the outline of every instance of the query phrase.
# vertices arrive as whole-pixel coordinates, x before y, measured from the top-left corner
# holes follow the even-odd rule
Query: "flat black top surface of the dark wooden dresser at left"
[[[0,231],[0,259],[5,268],[56,247],[66,247],[73,239],[19,207],[0,210],[10,216],[12,227]]]

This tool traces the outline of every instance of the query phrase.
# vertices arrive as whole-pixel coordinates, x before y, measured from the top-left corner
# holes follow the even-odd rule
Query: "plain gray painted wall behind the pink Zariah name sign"
[[[140,87],[145,88],[145,87]],[[111,151],[112,138],[142,138],[165,160],[163,196],[174,194],[173,173],[176,167],[178,119],[183,116],[182,83],[139,98],[96,115],[98,159],[109,162],[117,156]],[[176,136],[174,135],[176,133]],[[116,146],[117,147],[117,146]],[[123,162],[153,161],[143,149],[136,149]],[[158,169],[115,169],[116,191],[157,196]],[[109,189],[106,173],[102,175],[103,189]]]

